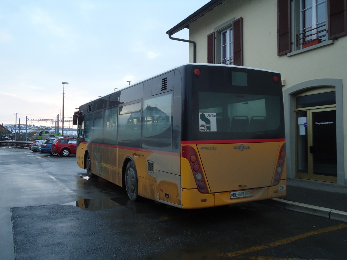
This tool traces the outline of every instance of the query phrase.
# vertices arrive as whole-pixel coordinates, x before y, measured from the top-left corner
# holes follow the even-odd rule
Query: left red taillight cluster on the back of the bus
[[[200,160],[195,149],[189,145],[182,146],[182,157],[186,158],[191,165],[196,187],[201,193],[208,193],[205,177],[202,173]]]

